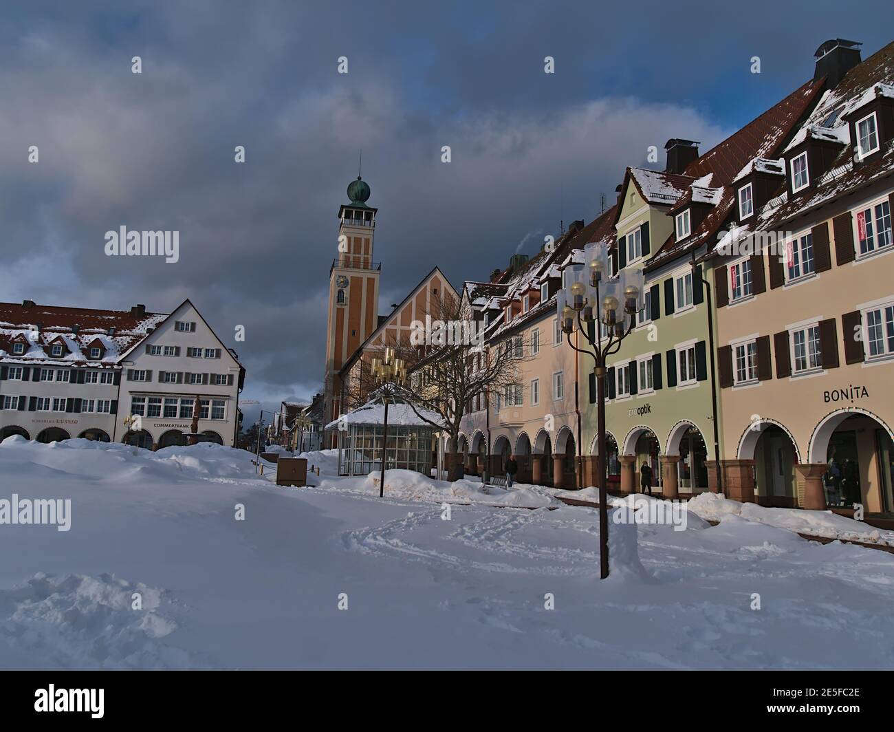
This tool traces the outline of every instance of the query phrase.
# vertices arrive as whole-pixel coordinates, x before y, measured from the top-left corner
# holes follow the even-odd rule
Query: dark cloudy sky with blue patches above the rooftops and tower
[[[894,16],[890,1],[778,0],[7,0],[0,13],[0,300],[169,311],[189,297],[240,353],[244,396],[269,403],[320,387],[359,149],[384,311],[435,264],[459,286],[533,253],[560,219],[594,217],[648,146],[704,151],[806,81],[823,40],[863,41],[866,57]],[[180,261],[106,257],[122,225],[178,230]]]

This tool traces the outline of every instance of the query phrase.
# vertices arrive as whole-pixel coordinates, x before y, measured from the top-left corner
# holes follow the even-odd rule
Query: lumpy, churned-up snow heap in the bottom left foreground
[[[160,611],[164,594],[112,575],[38,573],[0,590],[0,635],[56,668],[194,668],[159,640],[177,628]]]

